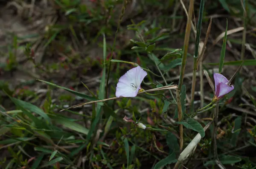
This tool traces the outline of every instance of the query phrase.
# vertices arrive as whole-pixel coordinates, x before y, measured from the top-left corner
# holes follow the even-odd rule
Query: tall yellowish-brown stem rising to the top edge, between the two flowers
[[[180,79],[179,79],[179,85],[178,89],[176,89],[176,99],[177,99],[177,109],[178,109],[178,120],[182,120],[182,109],[181,109],[181,101],[180,101],[180,90],[183,84],[183,78],[185,73],[185,67],[186,67],[186,57],[188,53],[189,48],[189,37],[190,37],[190,31],[191,31],[191,20],[193,15],[193,8],[194,8],[194,0],[189,0],[189,14],[187,18],[186,23],[186,32],[185,32],[185,38],[184,38],[184,47],[183,47],[183,56],[182,56],[182,62],[181,62],[181,70],[180,70]],[[183,125],[180,124],[179,127],[180,132],[180,151],[183,149]]]

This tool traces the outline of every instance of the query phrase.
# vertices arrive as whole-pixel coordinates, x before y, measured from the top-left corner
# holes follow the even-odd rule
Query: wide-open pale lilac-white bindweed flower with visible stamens
[[[116,97],[135,97],[141,89],[140,84],[147,76],[147,72],[137,66],[128,70],[120,77],[116,85]]]

